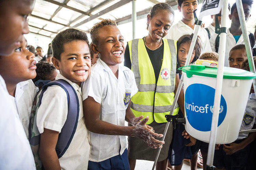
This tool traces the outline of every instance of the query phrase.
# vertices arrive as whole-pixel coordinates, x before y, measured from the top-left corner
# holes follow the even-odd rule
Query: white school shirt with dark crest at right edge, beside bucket
[[[240,131],[251,130],[253,128],[253,125],[256,124],[255,116],[256,116],[256,96],[254,93],[251,93],[247,101]],[[239,134],[237,139],[239,140],[239,139],[247,138],[248,134],[249,133]]]

